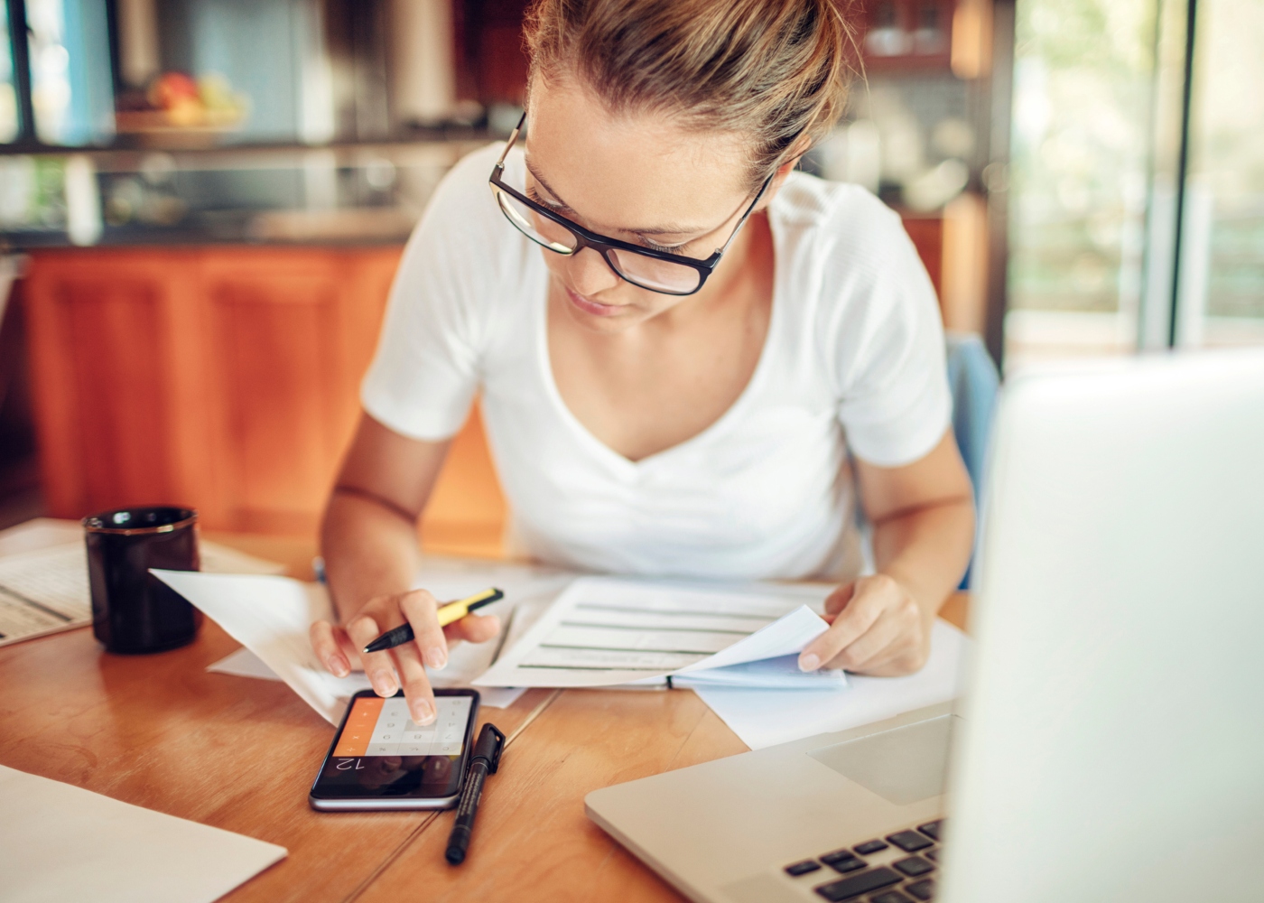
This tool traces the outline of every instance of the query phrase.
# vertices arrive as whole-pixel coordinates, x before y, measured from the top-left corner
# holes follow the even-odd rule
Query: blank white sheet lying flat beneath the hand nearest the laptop
[[[935,621],[930,659],[916,674],[875,678],[848,674],[848,687],[829,691],[695,687],[694,692],[752,750],[829,731],[846,731],[954,699],[969,639]]]

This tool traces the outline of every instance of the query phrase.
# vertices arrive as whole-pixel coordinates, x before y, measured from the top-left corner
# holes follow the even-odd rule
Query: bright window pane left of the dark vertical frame
[[[1006,368],[1136,348],[1153,0],[1019,0]]]

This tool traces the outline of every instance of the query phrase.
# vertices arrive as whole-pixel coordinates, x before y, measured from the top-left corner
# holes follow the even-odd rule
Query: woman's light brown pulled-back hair
[[[758,185],[842,115],[854,49],[847,3],[536,0],[525,27],[531,80],[576,77],[613,114],[748,135]]]

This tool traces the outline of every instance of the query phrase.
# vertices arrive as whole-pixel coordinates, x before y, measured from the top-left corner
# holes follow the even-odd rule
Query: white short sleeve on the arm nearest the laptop
[[[847,301],[828,311],[824,352],[852,453],[901,467],[929,454],[952,422],[943,321],[900,218],[868,192],[849,195],[825,280]]]

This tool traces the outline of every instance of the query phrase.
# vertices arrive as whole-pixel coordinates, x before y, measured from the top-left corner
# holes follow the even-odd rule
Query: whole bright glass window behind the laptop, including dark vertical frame
[[[1261,40],[1258,0],[1018,1],[1007,368],[1264,344]]]

